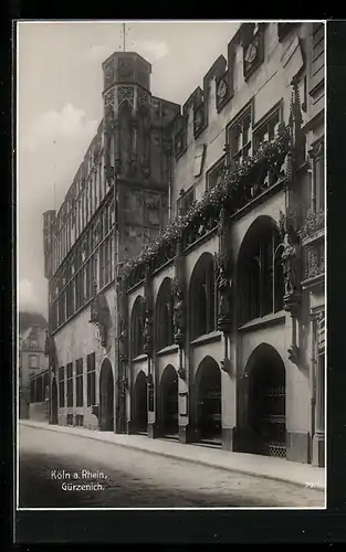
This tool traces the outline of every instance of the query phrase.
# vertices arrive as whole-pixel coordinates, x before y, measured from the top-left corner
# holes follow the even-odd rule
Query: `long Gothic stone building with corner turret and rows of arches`
[[[52,423],[323,466],[324,23],[241,24],[182,107],[103,66],[44,214]]]

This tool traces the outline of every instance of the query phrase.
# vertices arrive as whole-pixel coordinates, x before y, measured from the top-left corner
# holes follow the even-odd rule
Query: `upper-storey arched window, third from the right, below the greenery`
[[[174,344],[174,297],[170,278],[165,278],[156,300],[156,350]]]

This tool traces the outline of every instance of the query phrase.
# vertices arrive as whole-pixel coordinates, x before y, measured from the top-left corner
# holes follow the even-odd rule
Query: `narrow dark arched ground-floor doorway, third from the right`
[[[167,437],[177,437],[179,432],[178,375],[170,364],[165,368],[160,388],[162,434]]]

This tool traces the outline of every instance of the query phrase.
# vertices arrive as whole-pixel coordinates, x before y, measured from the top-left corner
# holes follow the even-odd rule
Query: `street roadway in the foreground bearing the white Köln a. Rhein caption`
[[[316,489],[80,436],[21,426],[19,439],[20,508],[324,506],[324,493]],[[93,489],[83,490],[83,485]]]

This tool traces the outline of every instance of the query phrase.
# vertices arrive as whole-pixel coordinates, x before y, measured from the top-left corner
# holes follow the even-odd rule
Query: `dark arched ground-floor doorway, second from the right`
[[[221,443],[221,372],[217,362],[205,359],[197,372],[198,416],[201,440]]]

